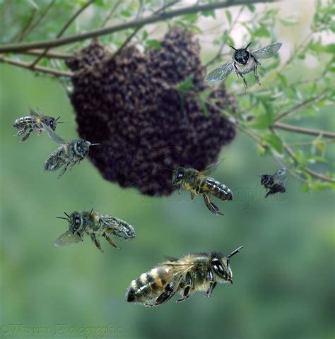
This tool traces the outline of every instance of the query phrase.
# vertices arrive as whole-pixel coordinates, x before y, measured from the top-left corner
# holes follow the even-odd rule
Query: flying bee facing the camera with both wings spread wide
[[[281,42],[275,42],[274,44],[269,44],[268,46],[256,49],[253,52],[248,50],[250,44],[252,44],[252,42],[250,42],[247,47],[242,49],[236,49],[235,47],[230,46],[231,48],[235,49],[232,60],[208,73],[206,80],[221,81],[225,79],[231,71],[234,70],[237,78],[238,76],[242,78],[243,84],[245,85],[245,90],[247,90],[248,83],[243,74],[254,71],[254,79],[259,85],[261,85],[259,76],[257,74],[257,66],[260,65],[258,60],[273,57],[274,54],[281,48],[282,44]]]

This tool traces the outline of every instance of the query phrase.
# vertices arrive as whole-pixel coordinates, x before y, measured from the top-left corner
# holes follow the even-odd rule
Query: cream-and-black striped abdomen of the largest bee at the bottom
[[[173,278],[173,270],[167,265],[153,268],[132,280],[126,292],[127,302],[154,306],[164,287]]]

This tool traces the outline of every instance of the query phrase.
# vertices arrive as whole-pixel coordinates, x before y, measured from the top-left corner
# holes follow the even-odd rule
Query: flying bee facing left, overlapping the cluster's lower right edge
[[[222,159],[218,160],[215,164],[202,171],[194,168],[177,167],[177,169],[172,171],[172,185],[178,186],[179,193],[181,188],[190,191],[192,200],[194,200],[195,196],[203,196],[208,210],[215,215],[223,215],[211,201],[211,196],[215,196],[223,201],[233,200],[233,193],[221,182],[208,177],[221,161]]]

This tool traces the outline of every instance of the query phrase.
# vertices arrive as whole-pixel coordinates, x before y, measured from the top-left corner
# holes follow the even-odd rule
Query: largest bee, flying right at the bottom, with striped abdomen
[[[154,307],[167,302],[177,292],[182,296],[177,302],[184,302],[197,291],[206,291],[206,297],[211,297],[217,283],[233,284],[229,261],[242,247],[228,256],[209,252],[167,257],[165,263],[131,281],[126,292],[127,302]]]

